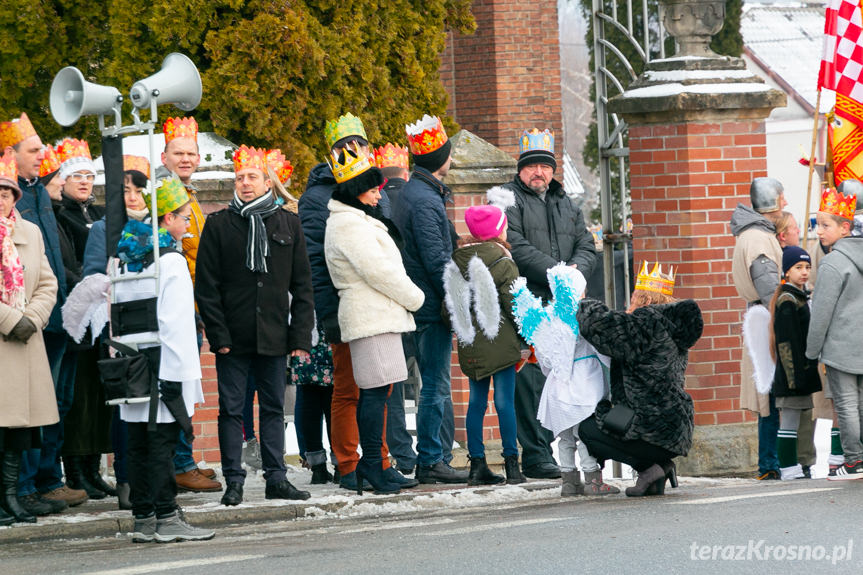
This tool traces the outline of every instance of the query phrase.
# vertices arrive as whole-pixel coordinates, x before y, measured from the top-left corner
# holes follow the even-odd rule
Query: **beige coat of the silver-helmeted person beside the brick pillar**
[[[776,263],[777,269],[782,269],[782,248],[779,247],[779,241],[774,234],[760,227],[750,227],[737,236],[731,272],[737,293],[747,303],[759,299],[755,284],[752,283],[749,275],[749,268],[761,254]],[[743,361],[740,367],[740,408],[758,412],[766,417],[770,415],[770,399],[755,390],[752,360],[746,351],[745,341],[743,345]]]

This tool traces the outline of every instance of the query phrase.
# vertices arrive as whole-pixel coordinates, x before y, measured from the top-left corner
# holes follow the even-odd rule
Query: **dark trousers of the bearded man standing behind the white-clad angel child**
[[[543,386],[545,376],[535,363],[525,364],[522,370],[515,374],[516,434],[521,444],[522,468],[555,462],[551,449],[554,434],[544,428],[536,418]]]

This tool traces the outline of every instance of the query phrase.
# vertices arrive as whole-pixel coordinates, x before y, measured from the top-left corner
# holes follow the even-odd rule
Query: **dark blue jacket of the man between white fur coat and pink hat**
[[[451,224],[444,207],[450,190],[428,170],[416,166],[402,188],[393,221],[404,240],[402,257],[408,276],[425,293],[414,314],[417,323],[441,321],[443,270],[453,252]]]

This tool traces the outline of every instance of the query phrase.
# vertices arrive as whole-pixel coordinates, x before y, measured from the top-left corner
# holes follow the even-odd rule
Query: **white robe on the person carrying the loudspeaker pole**
[[[195,413],[195,404],[204,402],[201,388],[201,359],[195,329],[195,295],[192,276],[186,259],[178,253],[168,253],[159,259],[158,317],[159,333],[135,334],[116,338],[125,344],[137,343],[158,336],[162,345],[159,378],[183,383],[183,403],[189,417]],[[153,264],[144,269],[151,272]],[[154,280],[141,279],[115,283],[118,302],[153,297]],[[141,344],[140,347],[147,347]],[[121,404],[120,418],[127,422],[146,423],[150,402]],[[159,401],[156,423],[171,423],[174,416]]]

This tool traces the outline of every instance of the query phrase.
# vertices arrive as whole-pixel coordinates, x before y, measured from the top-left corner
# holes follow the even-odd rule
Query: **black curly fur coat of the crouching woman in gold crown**
[[[581,335],[611,357],[611,402],[635,411],[622,439],[641,439],[686,455],[692,446],[694,408],[683,389],[683,375],[688,350],[704,328],[698,304],[683,300],[625,313],[585,299],[577,317]],[[596,407],[600,429],[610,408],[607,401]]]

